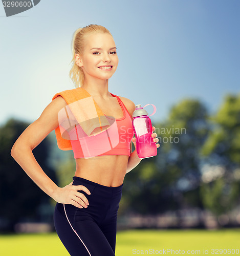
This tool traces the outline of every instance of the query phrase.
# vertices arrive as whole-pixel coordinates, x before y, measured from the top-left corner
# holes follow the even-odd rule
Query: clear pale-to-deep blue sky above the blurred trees
[[[42,0],[6,17],[1,2],[0,123],[33,122],[55,93],[74,88],[71,39],[89,24],[110,30],[118,48],[110,92],[155,104],[152,122],[183,98],[200,99],[213,113],[226,93],[240,91],[239,11],[238,0]]]

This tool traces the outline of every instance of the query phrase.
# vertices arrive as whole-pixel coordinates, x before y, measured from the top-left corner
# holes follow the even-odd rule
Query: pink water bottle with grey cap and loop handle
[[[154,112],[156,112],[156,106],[154,104],[146,104],[145,106],[152,105]],[[136,109],[133,113],[133,129],[136,137],[136,150],[139,158],[148,158],[157,155],[157,145],[151,137],[152,125],[151,119],[148,116],[145,106],[136,105]]]

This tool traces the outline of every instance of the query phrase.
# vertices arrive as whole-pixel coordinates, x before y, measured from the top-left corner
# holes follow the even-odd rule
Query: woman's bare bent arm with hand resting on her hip
[[[88,199],[77,190],[83,190],[87,194],[90,191],[85,186],[72,186],[72,183],[61,188],[58,187],[46,174],[36,161],[32,151],[34,148],[52,132],[58,124],[58,112],[66,101],[58,96],[52,100],[40,117],[31,123],[25,131],[18,137],[12,146],[11,156],[24,169],[26,174],[56,202],[73,204],[76,207],[87,207]]]

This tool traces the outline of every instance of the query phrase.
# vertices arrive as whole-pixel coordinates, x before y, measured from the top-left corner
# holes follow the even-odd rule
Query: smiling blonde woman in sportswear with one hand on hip
[[[130,146],[133,141],[136,148],[136,138],[133,138],[132,127],[135,103],[108,92],[108,79],[117,69],[118,56],[112,34],[106,28],[99,25],[79,28],[74,33],[72,44],[73,66],[70,77],[77,88],[63,91],[53,97],[40,117],[19,136],[12,147],[11,155],[28,176],[57,202],[54,211],[54,225],[60,240],[69,253],[81,256],[110,256],[115,255],[117,212],[124,176],[141,161],[136,150],[132,153]],[[106,123],[112,124],[112,126],[106,125],[104,130],[101,123],[97,127],[101,128],[101,132],[94,134],[95,138],[94,136],[89,137],[95,139],[96,148],[100,150],[98,154],[94,151],[95,154],[91,153],[91,155],[89,153],[91,148],[89,151],[84,151],[83,143],[79,143],[81,138],[71,138],[73,131],[77,131],[81,126],[84,127],[83,124],[88,125],[88,122],[81,122],[82,125],[75,123],[73,129],[72,127],[71,129],[66,128],[71,134],[70,138],[63,138],[62,130],[62,137],[59,138],[60,130],[57,135],[57,129],[60,126],[58,114],[62,110],[66,110],[68,106],[72,106],[67,100],[69,99],[67,95],[76,98],[77,93],[79,96],[86,95],[82,98],[84,100],[94,99],[99,106],[98,114],[101,113],[101,118],[105,118]],[[91,101],[84,102],[85,108],[82,108],[81,111],[89,114]],[[73,112],[73,114],[79,114],[81,111]],[[98,117],[99,115],[95,121],[99,120]],[[113,118],[111,119],[111,117]],[[88,121],[92,120],[94,119]],[[119,125],[121,125],[121,129],[119,129]],[[122,130],[125,137],[120,136],[119,132],[117,138],[119,143],[116,147],[112,146],[111,150],[105,148],[104,151],[105,141],[102,139],[99,143],[97,136],[102,136],[108,131],[108,138],[112,139],[112,142],[116,139],[113,137],[116,133],[112,133],[111,137],[110,130],[107,130],[106,127],[108,129],[117,127],[115,132]],[[88,129],[85,130],[86,133],[89,132]],[[154,131],[155,127],[153,126],[152,129]],[[76,159],[76,173],[73,182],[65,187],[58,187],[43,172],[32,154],[32,150],[53,130],[58,136],[59,147],[60,140],[71,142],[69,146],[60,148],[63,150],[71,148]],[[158,138],[155,137],[157,134],[153,133],[152,138],[157,143]],[[157,147],[159,147],[158,143]]]

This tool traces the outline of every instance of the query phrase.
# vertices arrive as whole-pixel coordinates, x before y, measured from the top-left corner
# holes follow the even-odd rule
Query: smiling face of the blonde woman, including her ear
[[[93,33],[85,37],[83,54],[76,54],[75,60],[86,78],[109,79],[118,67],[116,50],[110,34]]]

